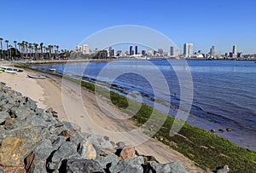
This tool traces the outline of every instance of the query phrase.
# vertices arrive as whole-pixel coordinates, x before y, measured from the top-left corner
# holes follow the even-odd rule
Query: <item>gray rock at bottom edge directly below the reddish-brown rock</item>
[[[143,173],[144,164],[143,157],[139,156],[135,159],[125,159],[119,162],[119,164],[111,165],[110,172],[122,172],[122,173]]]

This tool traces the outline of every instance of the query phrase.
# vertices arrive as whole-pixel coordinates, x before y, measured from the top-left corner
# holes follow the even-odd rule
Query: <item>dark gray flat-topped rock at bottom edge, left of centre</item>
[[[66,163],[61,166],[60,172],[67,173],[90,173],[90,172],[105,172],[101,164],[95,160],[86,159],[67,159]]]

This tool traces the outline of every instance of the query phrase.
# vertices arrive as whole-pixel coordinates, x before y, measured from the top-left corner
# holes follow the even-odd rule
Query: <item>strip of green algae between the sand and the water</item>
[[[31,69],[28,66],[22,66]],[[32,69],[38,71],[37,69]],[[61,74],[52,74],[62,77]],[[87,82],[80,82],[78,79],[65,77],[81,86],[89,89],[91,92],[97,91],[97,94],[107,96],[108,90],[102,89]],[[145,133],[163,142],[169,147],[183,153],[186,157],[194,160],[201,168],[216,170],[218,166],[228,164],[230,172],[256,172],[256,153],[242,147],[238,147],[232,142],[210,134],[207,130],[201,130],[189,124],[184,124],[183,128],[175,136],[169,136],[174,118],[166,116],[166,114],[154,110],[152,107],[131,101],[123,95],[114,92],[110,93],[111,101],[114,105],[128,114],[134,115],[133,107],[140,109],[131,118],[137,122],[138,126],[156,128],[161,120],[164,124],[156,134],[150,134],[150,130]],[[130,105],[128,104],[130,103]],[[128,107],[129,106],[129,107]],[[128,108],[127,108],[128,107]],[[148,120],[149,119],[149,120]],[[182,122],[181,122],[182,123]]]

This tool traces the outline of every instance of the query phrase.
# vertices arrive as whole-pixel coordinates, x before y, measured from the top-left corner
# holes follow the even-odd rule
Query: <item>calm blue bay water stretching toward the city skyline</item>
[[[184,66],[185,63],[189,66]],[[56,72],[83,76],[84,80],[111,83],[124,90],[120,94],[129,93],[137,101],[141,101],[141,93],[142,101],[152,107],[154,103],[161,107],[171,103],[168,112],[171,116],[177,112],[181,100],[181,80],[188,80],[185,75],[191,72],[194,95],[187,122],[205,130],[231,128],[231,132],[216,135],[256,151],[256,63],[253,61],[112,61],[33,67],[55,68]]]

